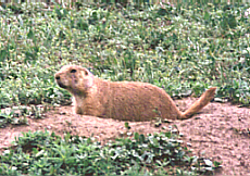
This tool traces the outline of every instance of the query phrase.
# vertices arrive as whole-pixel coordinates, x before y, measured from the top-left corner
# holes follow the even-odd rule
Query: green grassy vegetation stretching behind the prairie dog
[[[1,7],[0,106],[63,103],[53,74],[80,64],[102,78],[148,81],[171,96],[250,103],[250,5],[207,4],[75,9]]]

